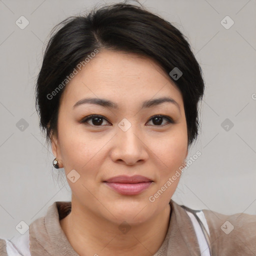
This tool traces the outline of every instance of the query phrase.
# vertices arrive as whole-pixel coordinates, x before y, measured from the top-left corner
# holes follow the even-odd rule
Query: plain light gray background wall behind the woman
[[[197,150],[202,154],[184,171],[172,199],[194,209],[255,214],[256,1],[140,2],[188,37],[206,86],[202,131],[187,159]],[[104,4],[0,0],[0,237],[15,240],[21,220],[29,225],[54,201],[71,198],[65,179],[57,181],[54,156],[39,130],[34,84],[51,28],[96,3]],[[29,21],[24,29],[15,24],[21,15]],[[220,23],[226,15],[234,21],[229,29]],[[23,131],[16,126],[21,118],[28,123]],[[233,123],[228,130],[222,127],[226,118]]]

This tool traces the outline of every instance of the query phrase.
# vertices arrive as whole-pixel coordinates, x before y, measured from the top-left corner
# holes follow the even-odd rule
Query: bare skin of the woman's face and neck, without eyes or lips
[[[168,96],[163,102],[141,109],[144,100]],[[84,97],[109,99],[118,109],[86,103]],[[90,114],[102,115],[79,123]],[[153,121],[154,115],[174,123]],[[118,123],[126,118],[131,127]],[[94,126],[93,126],[94,124]],[[100,126],[101,125],[101,126]],[[155,194],[183,164],[187,156],[187,126],[182,94],[170,77],[150,58],[103,50],[96,54],[66,85],[61,96],[52,152],[65,174],[74,169],[80,177],[71,188],[72,210],[60,220],[71,246],[83,255],[152,255],[161,246],[170,220],[169,200],[179,177],[155,199]],[[137,195],[122,195],[103,180],[116,175],[139,174],[153,180]],[[126,221],[130,229],[122,232]],[[86,244],[86,245],[85,245]]]

